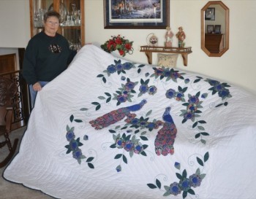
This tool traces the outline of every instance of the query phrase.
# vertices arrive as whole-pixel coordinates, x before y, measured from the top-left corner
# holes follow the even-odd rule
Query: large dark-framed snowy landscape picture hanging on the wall
[[[139,2],[103,0],[104,28],[165,29],[170,26],[170,0],[140,0]]]

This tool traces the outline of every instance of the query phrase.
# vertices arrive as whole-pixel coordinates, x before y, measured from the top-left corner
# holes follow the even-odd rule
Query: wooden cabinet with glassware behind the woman
[[[75,50],[85,44],[84,0],[29,0],[31,37],[42,31],[43,15],[55,10],[61,15],[58,33]]]

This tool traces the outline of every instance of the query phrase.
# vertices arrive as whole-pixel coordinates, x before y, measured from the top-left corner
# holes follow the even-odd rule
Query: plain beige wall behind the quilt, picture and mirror
[[[170,0],[170,26],[174,33],[178,26],[183,26],[187,34],[186,44],[193,51],[189,54],[187,67],[183,66],[179,56],[178,69],[224,79],[256,93],[256,0],[222,1],[230,9],[230,49],[221,58],[210,58],[200,49],[200,9],[207,2]],[[103,0],[85,0],[85,10],[86,42],[99,46],[111,35],[121,34],[134,41],[134,53],[124,57],[129,61],[147,63],[146,55],[139,51],[140,46],[146,44],[148,34],[156,34],[159,45],[164,42],[165,30],[104,29]],[[29,0],[0,0],[0,23],[0,47],[26,47],[29,41]],[[177,45],[176,39],[173,43]],[[157,63],[156,56],[154,54],[154,64]]]

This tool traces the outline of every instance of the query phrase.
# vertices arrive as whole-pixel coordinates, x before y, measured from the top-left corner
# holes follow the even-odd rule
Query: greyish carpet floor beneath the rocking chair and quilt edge
[[[13,130],[10,133],[10,140],[14,141],[15,138],[19,139],[18,147],[16,149],[16,154],[18,153],[20,147],[20,141],[25,132],[26,128],[19,128],[18,130]],[[0,141],[4,140],[4,136],[0,137]],[[4,157],[7,156],[9,150],[7,146],[4,146],[0,149],[0,160],[4,160]],[[44,193],[38,190],[32,190],[28,187],[24,187],[22,184],[16,184],[13,182],[9,182],[3,178],[4,168],[0,168],[1,177],[0,177],[0,199],[53,199],[49,195],[45,195]]]

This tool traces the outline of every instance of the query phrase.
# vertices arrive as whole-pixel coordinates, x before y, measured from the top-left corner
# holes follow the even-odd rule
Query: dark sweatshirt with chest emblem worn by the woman
[[[32,37],[23,60],[23,77],[29,85],[50,82],[67,69],[76,51],[69,49],[64,36],[48,36],[43,31]]]

